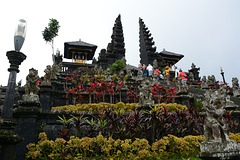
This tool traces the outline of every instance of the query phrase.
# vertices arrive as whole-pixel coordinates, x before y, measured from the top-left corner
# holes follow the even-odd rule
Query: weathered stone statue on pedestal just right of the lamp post
[[[39,102],[37,82],[39,80],[38,70],[31,68],[26,78],[25,94],[22,96],[23,102]]]

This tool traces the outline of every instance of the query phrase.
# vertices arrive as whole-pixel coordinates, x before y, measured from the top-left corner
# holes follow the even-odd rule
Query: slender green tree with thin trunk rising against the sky
[[[59,22],[56,19],[49,19],[48,27],[45,27],[44,31],[42,31],[43,39],[50,43],[52,47],[52,51],[54,54],[54,38],[58,36],[58,30],[60,28]]]

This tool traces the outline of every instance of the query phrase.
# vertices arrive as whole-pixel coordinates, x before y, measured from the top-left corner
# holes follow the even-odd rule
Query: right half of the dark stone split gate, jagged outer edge
[[[140,63],[151,64],[156,59],[158,66],[162,66],[162,57],[156,52],[152,34],[144,24],[143,20],[139,18],[139,51],[140,51]]]

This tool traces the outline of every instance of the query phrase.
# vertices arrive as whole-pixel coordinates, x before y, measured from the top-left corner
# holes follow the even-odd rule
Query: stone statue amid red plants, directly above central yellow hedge
[[[139,106],[153,106],[151,83],[148,78],[145,78],[138,86],[139,89]]]

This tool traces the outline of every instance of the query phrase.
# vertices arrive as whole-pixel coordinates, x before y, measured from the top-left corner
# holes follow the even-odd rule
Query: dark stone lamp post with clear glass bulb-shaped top
[[[14,104],[14,94],[15,94],[15,87],[16,87],[16,77],[17,73],[19,73],[19,65],[26,59],[26,55],[20,52],[22,48],[23,42],[26,36],[26,26],[27,23],[25,20],[20,19],[17,28],[14,34],[14,51],[8,51],[7,57],[10,63],[10,68],[8,68],[9,79],[8,85],[5,95],[5,100],[3,104],[3,109],[1,112],[1,117],[5,119],[11,119],[13,113],[13,104]]]

